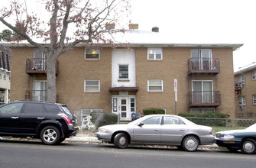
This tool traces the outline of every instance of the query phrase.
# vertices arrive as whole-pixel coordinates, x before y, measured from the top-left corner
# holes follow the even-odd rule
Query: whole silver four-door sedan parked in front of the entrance
[[[129,124],[102,126],[96,137],[118,148],[128,144],[164,144],[195,151],[200,144],[214,143],[212,128],[177,115],[146,115]]]

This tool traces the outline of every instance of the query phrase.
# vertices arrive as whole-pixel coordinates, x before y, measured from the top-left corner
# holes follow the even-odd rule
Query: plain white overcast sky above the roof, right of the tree
[[[170,43],[244,44],[234,51],[236,70],[256,62],[255,6],[256,0],[131,0],[131,23],[144,31],[159,27]]]

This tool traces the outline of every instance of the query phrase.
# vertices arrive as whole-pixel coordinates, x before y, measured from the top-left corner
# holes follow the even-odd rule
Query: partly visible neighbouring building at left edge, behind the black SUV
[[[0,45],[0,105],[9,102],[11,86],[11,50]]]

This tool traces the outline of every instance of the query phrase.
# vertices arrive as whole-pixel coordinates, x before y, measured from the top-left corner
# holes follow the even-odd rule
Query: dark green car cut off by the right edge
[[[256,153],[256,124],[243,130],[220,131],[215,134],[215,143],[230,151]]]

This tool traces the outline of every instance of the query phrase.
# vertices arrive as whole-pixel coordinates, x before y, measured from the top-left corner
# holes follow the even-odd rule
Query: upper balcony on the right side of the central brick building
[[[212,60],[210,58],[203,59],[194,59],[190,58],[188,60],[188,74],[197,74],[197,73],[209,73],[209,74],[218,74],[220,72],[220,63],[219,58]]]

